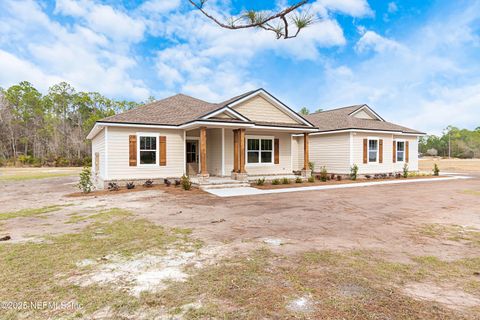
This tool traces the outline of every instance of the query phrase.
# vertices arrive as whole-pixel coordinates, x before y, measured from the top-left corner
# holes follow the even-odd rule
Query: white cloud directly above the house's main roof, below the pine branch
[[[220,15],[215,6],[209,10]],[[196,11],[177,12],[153,28],[172,42],[182,43],[157,53],[158,76],[167,78],[165,83],[170,89],[177,87],[210,99],[227,98],[261,86],[250,72],[258,56],[319,61],[321,48],[346,43],[342,28],[331,18],[320,20],[290,40],[276,40],[263,30],[222,29]]]

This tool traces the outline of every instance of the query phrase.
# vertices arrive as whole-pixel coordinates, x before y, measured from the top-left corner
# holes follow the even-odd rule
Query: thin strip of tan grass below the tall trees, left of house
[[[76,176],[81,168],[0,168],[0,182]]]

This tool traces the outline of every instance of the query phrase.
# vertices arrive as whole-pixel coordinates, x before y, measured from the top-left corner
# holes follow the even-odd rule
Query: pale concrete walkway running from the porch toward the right
[[[311,186],[311,187],[291,187],[281,189],[257,189],[253,187],[242,188],[224,188],[224,189],[212,189],[205,190],[211,194],[219,197],[240,197],[240,196],[252,196],[260,194],[272,194],[272,193],[287,193],[287,192],[300,192],[300,191],[316,191],[316,190],[330,190],[330,189],[345,189],[345,188],[359,188],[359,187],[374,187],[387,184],[402,184],[402,183],[427,183],[438,181],[449,181],[459,179],[470,179],[467,176],[452,176],[452,177],[440,177],[440,178],[424,178],[424,179],[408,179],[408,180],[392,180],[392,181],[372,181],[372,182],[358,182],[348,184],[335,184],[326,186]]]

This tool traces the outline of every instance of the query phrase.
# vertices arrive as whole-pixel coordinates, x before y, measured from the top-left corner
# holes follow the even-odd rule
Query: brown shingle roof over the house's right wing
[[[351,113],[366,105],[354,105],[338,109],[312,113],[305,118],[323,131],[338,131],[346,129],[363,129],[379,131],[398,131],[402,133],[423,134],[423,132],[400,126],[387,121],[360,119]],[[370,107],[369,107],[370,108]]]

